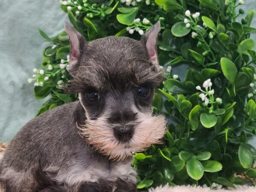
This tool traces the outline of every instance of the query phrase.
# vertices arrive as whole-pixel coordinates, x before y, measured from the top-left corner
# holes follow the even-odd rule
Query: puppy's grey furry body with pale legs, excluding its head
[[[88,185],[88,191],[109,192],[124,182],[134,192],[136,174],[131,161],[117,163],[93,151],[77,131],[76,123],[84,120],[84,109],[79,102],[73,102],[26,124],[9,144],[2,161],[1,174],[7,191],[49,188],[76,192],[82,187],[88,189]],[[119,187],[118,191],[128,189]]]

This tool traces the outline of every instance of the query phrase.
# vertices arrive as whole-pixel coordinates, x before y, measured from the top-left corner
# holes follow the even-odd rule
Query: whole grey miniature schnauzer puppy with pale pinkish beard
[[[32,119],[12,139],[0,164],[5,192],[135,192],[132,155],[159,143],[163,116],[152,116],[158,70],[157,22],[140,41],[86,42],[66,23],[73,76],[71,102]]]

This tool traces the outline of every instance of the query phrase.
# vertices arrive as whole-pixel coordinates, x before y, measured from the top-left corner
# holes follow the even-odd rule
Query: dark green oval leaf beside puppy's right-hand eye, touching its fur
[[[189,93],[189,91],[186,89],[186,87],[178,80],[176,79],[168,79],[164,81],[164,88],[170,93],[174,94],[186,94]]]

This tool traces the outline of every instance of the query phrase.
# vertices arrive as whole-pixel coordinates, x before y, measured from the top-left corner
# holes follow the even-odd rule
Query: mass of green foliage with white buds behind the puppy
[[[256,134],[256,52],[250,39],[250,32],[256,31],[250,27],[254,10],[239,21],[236,0],[61,3],[87,41],[108,35],[140,39],[161,21],[157,48],[166,81],[157,90],[153,109],[166,116],[168,131],[163,144],[134,155],[139,190],[165,183],[211,186],[215,182],[235,188],[233,183],[244,184],[235,173],[256,177],[256,149],[247,144]],[[50,96],[38,115],[77,99],[60,87],[71,79],[65,69],[67,33],[49,38],[39,32],[52,45],[43,52],[42,69],[35,69],[37,75],[29,79],[35,83],[37,99]],[[186,66],[184,79],[172,73],[180,65]]]

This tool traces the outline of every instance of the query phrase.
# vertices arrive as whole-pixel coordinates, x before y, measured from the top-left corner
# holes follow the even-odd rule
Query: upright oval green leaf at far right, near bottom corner
[[[244,144],[241,144],[239,146],[238,157],[239,157],[241,166],[243,166],[244,169],[248,169],[251,167],[253,163],[253,157],[250,154],[249,150],[244,146]]]

